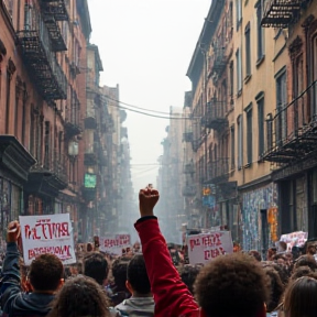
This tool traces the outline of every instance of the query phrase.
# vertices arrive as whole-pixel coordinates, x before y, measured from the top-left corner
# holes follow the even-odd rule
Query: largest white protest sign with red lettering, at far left
[[[19,219],[26,265],[44,253],[55,254],[63,264],[76,263],[69,214],[20,216]]]

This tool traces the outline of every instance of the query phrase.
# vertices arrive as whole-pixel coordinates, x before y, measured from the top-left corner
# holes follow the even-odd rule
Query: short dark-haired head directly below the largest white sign
[[[63,285],[64,266],[54,254],[41,254],[30,265],[29,280],[35,292],[55,292]]]

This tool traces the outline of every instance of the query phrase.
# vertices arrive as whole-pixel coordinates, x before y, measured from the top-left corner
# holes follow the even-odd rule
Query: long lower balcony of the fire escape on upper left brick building
[[[17,32],[17,36],[30,77],[43,99],[66,99],[67,79],[51,51],[48,31],[41,14],[25,30]]]

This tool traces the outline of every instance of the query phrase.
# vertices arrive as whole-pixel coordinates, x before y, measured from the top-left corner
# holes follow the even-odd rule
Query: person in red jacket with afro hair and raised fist
[[[155,300],[155,316],[265,317],[267,280],[261,264],[241,252],[218,256],[205,265],[193,295],[173,265],[153,208],[158,192],[141,189],[135,223]]]

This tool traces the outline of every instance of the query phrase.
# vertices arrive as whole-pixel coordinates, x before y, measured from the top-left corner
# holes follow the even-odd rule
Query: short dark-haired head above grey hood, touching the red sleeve
[[[133,296],[151,295],[151,284],[142,254],[134,255],[129,262],[125,285]]]

